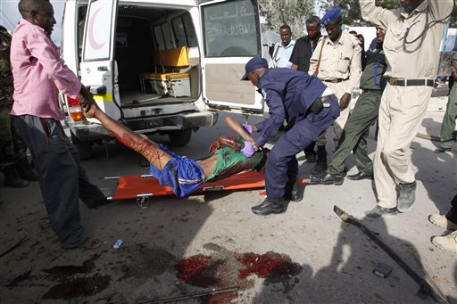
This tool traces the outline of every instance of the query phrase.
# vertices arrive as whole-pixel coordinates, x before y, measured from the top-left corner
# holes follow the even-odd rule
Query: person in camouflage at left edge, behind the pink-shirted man
[[[10,44],[11,35],[0,26],[0,171],[4,172],[4,185],[19,188],[36,181],[37,174],[29,168],[27,146],[10,116],[14,91]]]

